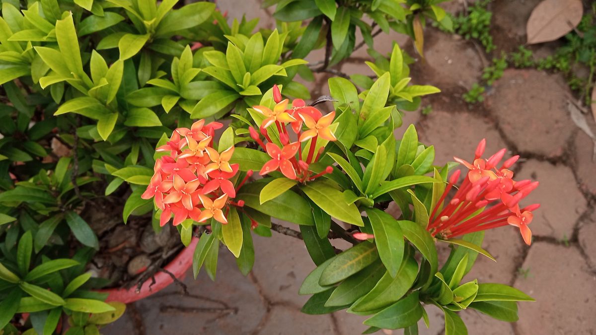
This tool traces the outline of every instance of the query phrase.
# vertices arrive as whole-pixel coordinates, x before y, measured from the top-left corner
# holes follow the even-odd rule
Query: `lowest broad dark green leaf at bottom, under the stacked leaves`
[[[363,323],[386,329],[405,328],[420,320],[422,309],[423,307],[418,301],[418,291],[414,291]]]

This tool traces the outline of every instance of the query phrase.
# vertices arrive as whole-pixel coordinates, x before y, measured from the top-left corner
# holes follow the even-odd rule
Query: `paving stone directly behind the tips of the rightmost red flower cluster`
[[[516,180],[522,179],[540,182],[539,187],[522,200],[522,206],[541,204],[529,226],[532,234],[557,240],[571,238],[576,221],[587,208],[572,170],[563,165],[529,160],[516,175]]]

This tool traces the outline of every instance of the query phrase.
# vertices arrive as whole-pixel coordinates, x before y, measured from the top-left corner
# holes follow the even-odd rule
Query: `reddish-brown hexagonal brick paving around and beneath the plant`
[[[508,49],[508,39],[523,42],[525,22],[538,2],[495,2],[493,33],[498,35],[499,48]],[[229,17],[240,18],[246,12],[248,18],[260,17],[261,27],[274,25],[269,12],[260,9],[259,0],[220,0],[218,4]],[[464,1],[445,5],[455,12]],[[507,70],[489,90],[485,103],[468,106],[461,94],[480,77],[488,57],[471,42],[432,29],[426,34],[426,61],[412,64],[412,82],[437,85],[443,92],[423,100],[433,106],[429,115],[407,113],[404,125],[414,123],[420,141],[435,145],[436,162],[454,155],[468,157],[476,142],[486,137],[489,151],[508,147],[509,155],[513,151],[522,154],[515,171],[518,176],[541,182],[532,194],[533,201],[543,206],[530,225],[535,235],[532,246],[526,246],[513,227],[489,231],[483,246],[497,262],[480,256],[466,277],[512,284],[537,301],[520,303],[520,320],[513,324],[462,311],[469,333],[596,334],[596,163],[591,139],[569,116],[566,106],[571,95],[563,78],[535,70]],[[387,53],[392,41],[415,55],[411,41],[403,36],[381,34],[375,46]],[[336,69],[371,74],[364,65],[367,57],[363,48]],[[321,59],[315,58],[309,60]],[[328,77],[318,73],[315,82],[307,83],[313,97],[328,93]],[[593,120],[588,123],[596,132]],[[401,135],[405,126],[396,134]],[[300,312],[308,297],[297,291],[315,267],[301,241],[280,234],[271,238],[254,235],[254,246],[256,262],[248,277],[240,274],[233,256],[222,249],[215,283],[204,272],[197,280],[189,274],[184,283],[190,296],[170,286],[135,303],[104,333],[348,335],[367,328],[361,324],[364,317],[344,311],[319,316]],[[448,249],[440,250],[440,259],[445,259]],[[433,306],[427,311],[431,327],[427,330],[421,323],[420,334],[442,334],[442,314]]]

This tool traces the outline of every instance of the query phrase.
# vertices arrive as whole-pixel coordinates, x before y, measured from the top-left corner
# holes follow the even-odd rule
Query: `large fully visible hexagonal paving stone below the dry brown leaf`
[[[520,151],[556,157],[564,153],[567,139],[575,130],[566,107],[570,96],[560,75],[505,70],[486,103],[505,136]]]

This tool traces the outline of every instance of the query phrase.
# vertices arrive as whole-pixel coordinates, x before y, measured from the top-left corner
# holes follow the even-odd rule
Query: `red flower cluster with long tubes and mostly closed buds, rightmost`
[[[532,232],[527,225],[532,222],[532,211],[538,209],[540,204],[530,204],[520,209],[519,202],[538,187],[538,182],[529,179],[514,181],[513,172],[509,168],[519,156],[505,160],[500,168],[496,168],[507,150],[499,150],[489,159],[482,159],[480,156],[484,153],[485,147],[486,139],[482,139],[476,148],[473,163],[454,157],[458,163],[468,168],[467,176],[453,198],[441,210],[440,204],[460,178],[460,170],[455,171],[449,178],[445,192],[430,215],[427,230],[433,236],[452,238],[470,232],[513,225],[520,229],[523,240],[530,245]],[[492,206],[487,207],[489,204]],[[480,209],[483,210],[478,213]]]

